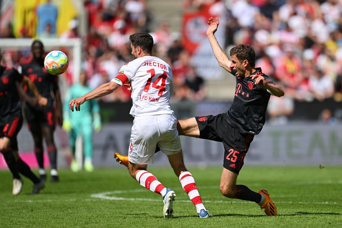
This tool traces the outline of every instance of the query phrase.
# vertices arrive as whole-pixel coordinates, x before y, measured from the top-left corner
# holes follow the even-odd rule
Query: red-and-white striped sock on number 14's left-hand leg
[[[148,190],[157,192],[159,195],[164,196],[166,194],[166,188],[157,180],[157,177],[146,170],[139,171],[135,179]]]

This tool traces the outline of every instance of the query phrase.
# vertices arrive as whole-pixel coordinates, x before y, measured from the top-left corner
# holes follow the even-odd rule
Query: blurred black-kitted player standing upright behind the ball
[[[63,123],[61,96],[58,89],[58,76],[51,75],[44,68],[44,46],[41,41],[35,40],[32,43],[31,50],[33,58],[24,61],[19,67],[19,72],[22,73],[22,75],[29,77],[36,85],[39,93],[48,98],[48,105],[42,109],[37,105],[37,99],[33,96],[32,91],[28,90],[27,93],[23,93],[22,91],[21,94],[26,100],[25,117],[35,143],[35,154],[39,164],[40,178],[43,180],[46,178],[46,171],[43,165],[42,138],[44,136],[51,164],[50,181],[58,182],[57,150],[53,138],[56,121],[59,125],[62,125]],[[52,93],[55,99],[53,99]]]

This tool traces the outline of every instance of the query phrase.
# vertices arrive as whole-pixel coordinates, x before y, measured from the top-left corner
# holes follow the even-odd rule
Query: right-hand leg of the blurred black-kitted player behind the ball
[[[45,138],[46,145],[48,147],[48,155],[51,165],[51,179],[50,182],[58,182],[58,172],[57,172],[57,149],[55,146],[53,131],[54,126],[42,126],[42,132]]]

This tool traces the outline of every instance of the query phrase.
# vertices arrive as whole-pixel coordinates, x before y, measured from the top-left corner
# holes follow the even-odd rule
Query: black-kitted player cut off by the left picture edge
[[[0,52],[0,62],[1,62]],[[38,104],[46,106],[47,98],[42,97],[36,86],[29,78],[21,76],[13,68],[6,68],[0,65],[0,152],[13,174],[13,195],[18,195],[22,189],[23,179],[19,173],[28,177],[34,183],[32,194],[37,194],[45,187],[30,167],[18,155],[17,134],[23,124],[22,108],[16,83],[24,84],[33,91]]]

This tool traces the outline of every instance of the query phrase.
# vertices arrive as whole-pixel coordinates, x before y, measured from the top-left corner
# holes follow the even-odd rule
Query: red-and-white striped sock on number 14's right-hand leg
[[[195,179],[191,175],[191,173],[188,171],[181,173],[181,175],[179,175],[179,180],[181,182],[182,188],[188,194],[193,204],[196,206],[197,213],[200,213],[202,209],[206,210],[202,203],[202,199],[199,196],[199,192],[195,184]]]

